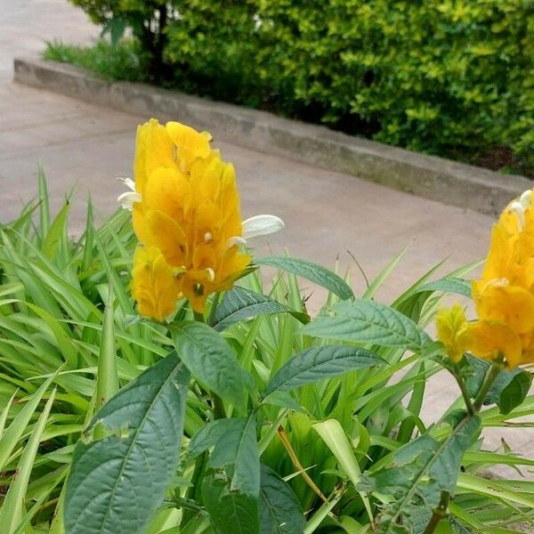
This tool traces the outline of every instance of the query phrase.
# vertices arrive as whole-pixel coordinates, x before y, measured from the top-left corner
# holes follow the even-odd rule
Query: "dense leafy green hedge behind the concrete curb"
[[[182,90],[534,172],[531,0],[72,1]]]

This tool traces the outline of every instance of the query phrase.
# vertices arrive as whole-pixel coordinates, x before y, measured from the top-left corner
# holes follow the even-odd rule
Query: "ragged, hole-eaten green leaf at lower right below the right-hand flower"
[[[443,441],[424,433],[396,449],[391,465],[362,476],[360,490],[393,498],[380,515],[376,534],[408,533],[411,515],[421,502],[432,511],[440,503],[441,492],[454,495],[462,457],[479,431],[480,418],[452,412],[446,424],[450,431]]]

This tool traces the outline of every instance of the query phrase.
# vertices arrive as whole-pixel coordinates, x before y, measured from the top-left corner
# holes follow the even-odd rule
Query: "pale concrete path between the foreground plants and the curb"
[[[0,0],[0,10],[0,221],[16,216],[21,203],[35,196],[40,163],[55,206],[77,188],[71,229],[78,232],[88,191],[102,214],[116,209],[122,188],[114,178],[132,174],[135,127],[148,117],[12,84],[15,54],[39,52],[44,39],[87,42],[98,31],[65,0],[20,0],[15,6]],[[339,258],[342,268],[351,267],[353,285],[361,291],[365,280],[347,250],[372,279],[409,247],[378,294],[384,302],[444,258],[449,258],[442,270],[447,272],[485,255],[493,222],[486,215],[244,150],[223,139],[215,145],[237,168],[243,214],[279,214],[287,223],[285,231],[257,244],[258,255],[287,247],[292,255],[327,266]],[[312,307],[317,309],[322,295],[309,291],[314,291]],[[448,376],[434,378],[425,401],[427,417],[456,396]],[[491,447],[498,447],[501,435],[514,449],[532,444],[531,430],[503,429],[491,433]]]

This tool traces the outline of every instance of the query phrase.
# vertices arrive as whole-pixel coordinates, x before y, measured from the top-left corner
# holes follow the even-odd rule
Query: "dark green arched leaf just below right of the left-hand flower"
[[[310,321],[307,313],[296,312],[286,304],[279,303],[261,293],[235,286],[225,293],[223,302],[217,306],[210,324],[217,332],[222,332],[240,320],[250,320],[258,315],[273,313],[290,313],[303,324]]]

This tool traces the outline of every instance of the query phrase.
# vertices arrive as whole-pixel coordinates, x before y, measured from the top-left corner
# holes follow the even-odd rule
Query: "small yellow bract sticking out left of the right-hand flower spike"
[[[450,360],[460,361],[471,344],[471,334],[465,312],[459,303],[441,308],[436,314],[438,339],[445,345]]]

